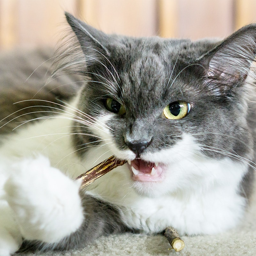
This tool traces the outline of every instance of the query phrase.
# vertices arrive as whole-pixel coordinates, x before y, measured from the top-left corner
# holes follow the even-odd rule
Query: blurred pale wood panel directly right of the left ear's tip
[[[80,17],[106,33],[157,35],[157,0],[80,0]]]

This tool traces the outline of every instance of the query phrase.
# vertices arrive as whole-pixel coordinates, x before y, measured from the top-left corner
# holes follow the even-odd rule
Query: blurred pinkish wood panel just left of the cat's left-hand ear
[[[74,9],[73,0],[22,0],[18,5],[18,43],[44,45],[58,41],[64,10]]]

